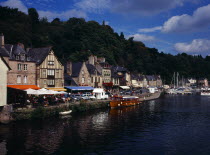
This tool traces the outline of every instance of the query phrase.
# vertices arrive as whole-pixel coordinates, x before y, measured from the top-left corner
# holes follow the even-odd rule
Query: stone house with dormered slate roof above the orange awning
[[[30,59],[24,45],[4,44],[4,36],[0,36],[2,56],[11,67],[8,71],[8,85],[36,85],[36,63]]]

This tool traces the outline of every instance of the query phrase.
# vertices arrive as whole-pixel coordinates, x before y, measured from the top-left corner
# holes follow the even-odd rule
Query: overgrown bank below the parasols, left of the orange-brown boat
[[[49,107],[37,107],[15,110],[12,117],[15,121],[18,120],[33,120],[44,119],[48,117],[59,116],[59,112],[72,110],[72,113],[85,112],[94,109],[107,108],[109,101],[84,102],[61,104]]]

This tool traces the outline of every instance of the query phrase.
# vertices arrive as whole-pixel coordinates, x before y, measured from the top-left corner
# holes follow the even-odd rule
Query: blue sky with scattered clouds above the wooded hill
[[[48,21],[71,17],[110,25],[159,52],[210,55],[210,0],[0,0]]]

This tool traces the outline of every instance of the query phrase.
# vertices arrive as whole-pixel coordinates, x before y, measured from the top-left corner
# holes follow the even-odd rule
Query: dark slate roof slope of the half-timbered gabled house
[[[45,58],[48,56],[52,47],[44,47],[44,48],[32,48],[28,51],[28,56],[32,61],[35,61],[37,64],[41,64]]]

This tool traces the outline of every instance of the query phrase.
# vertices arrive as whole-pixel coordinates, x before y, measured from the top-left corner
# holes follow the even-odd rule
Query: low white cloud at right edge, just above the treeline
[[[191,43],[176,43],[176,51],[185,53],[204,53],[210,52],[210,40],[194,39]]]

